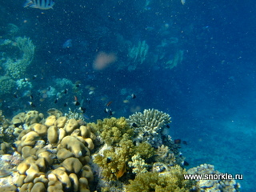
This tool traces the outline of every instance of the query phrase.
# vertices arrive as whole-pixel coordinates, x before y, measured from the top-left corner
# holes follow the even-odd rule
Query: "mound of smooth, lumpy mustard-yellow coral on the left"
[[[20,191],[90,191],[94,176],[88,163],[95,135],[85,122],[54,115],[42,118],[38,111],[29,111],[12,119],[10,126],[23,125],[14,142],[24,158],[15,185]]]

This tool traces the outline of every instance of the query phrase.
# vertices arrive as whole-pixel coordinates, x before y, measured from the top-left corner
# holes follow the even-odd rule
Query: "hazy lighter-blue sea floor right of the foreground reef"
[[[238,181],[241,191],[254,191],[256,127],[250,122],[232,120],[211,121],[210,125],[210,130],[197,132],[191,127],[194,134],[183,134],[188,145],[182,145],[181,151],[190,163],[188,168],[207,163],[222,173],[242,174],[243,179]]]

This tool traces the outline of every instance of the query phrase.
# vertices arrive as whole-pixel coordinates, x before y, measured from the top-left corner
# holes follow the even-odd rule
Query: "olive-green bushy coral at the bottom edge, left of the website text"
[[[186,170],[173,166],[164,173],[147,172],[137,174],[136,178],[126,186],[127,192],[189,192],[195,190],[196,182],[185,180]]]

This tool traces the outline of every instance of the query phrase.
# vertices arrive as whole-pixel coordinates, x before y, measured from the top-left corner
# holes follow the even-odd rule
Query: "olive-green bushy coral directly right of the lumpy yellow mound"
[[[134,130],[126,118],[105,118],[97,124],[90,123],[90,126],[106,143],[102,152],[94,156],[94,162],[102,168],[105,180],[117,180],[126,172],[126,164],[135,153]]]

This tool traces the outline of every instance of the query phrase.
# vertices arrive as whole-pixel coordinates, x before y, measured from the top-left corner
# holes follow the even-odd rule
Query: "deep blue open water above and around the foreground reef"
[[[106,118],[106,103],[114,117],[129,117],[135,111],[155,108],[172,117],[170,135],[188,142],[182,152],[190,167],[202,163],[229,174],[243,174],[242,191],[254,191],[256,158],[256,14],[253,1],[55,1],[53,10],[23,8],[22,1],[6,1],[0,6],[0,36],[7,38],[8,23],[18,26],[16,36],[29,37],[36,51],[24,78],[34,79],[35,109],[28,98],[4,95],[1,110],[12,116],[23,110],[56,107],[64,112],[74,96],[84,102],[91,121]],[[118,37],[123,40],[118,41]],[[11,37],[8,37],[11,38]],[[175,38],[174,46],[158,50],[165,39]],[[72,45],[64,46],[67,40]],[[150,47],[146,63],[128,70],[126,46],[146,41]],[[70,44],[69,44],[70,45]],[[172,70],[153,62],[164,51],[174,58],[182,50],[183,60]],[[100,51],[115,53],[118,60],[104,70],[92,63]],[[122,67],[124,66],[124,67]],[[4,72],[1,70],[1,75]],[[75,92],[69,88],[39,102],[39,90],[55,86],[54,79],[81,82]],[[95,88],[93,94],[86,86]],[[66,86],[58,87],[58,91]],[[93,89],[91,89],[93,90]],[[21,93],[22,94],[22,93]],[[130,94],[136,94],[131,99]],[[128,100],[128,102],[124,102]],[[63,103],[70,106],[64,107]]]

